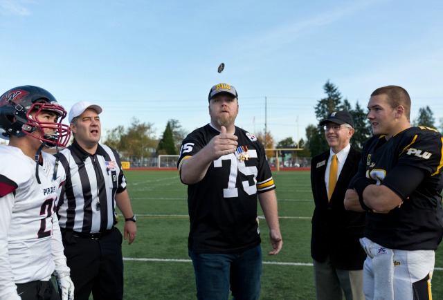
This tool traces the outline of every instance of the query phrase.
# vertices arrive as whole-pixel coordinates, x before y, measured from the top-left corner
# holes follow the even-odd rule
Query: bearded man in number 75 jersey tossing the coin
[[[181,145],[178,168],[188,185],[188,250],[198,299],[258,299],[262,250],[257,196],[275,255],[282,248],[277,197],[264,147],[235,126],[239,105],[234,86],[210,89],[210,123]]]

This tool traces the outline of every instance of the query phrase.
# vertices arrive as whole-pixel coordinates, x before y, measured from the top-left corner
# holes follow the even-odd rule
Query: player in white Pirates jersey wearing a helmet
[[[0,97],[0,134],[9,140],[0,146],[0,300],[73,299],[54,212],[65,175],[56,158],[42,152],[69,142],[64,117],[55,97],[37,86],[18,86]]]

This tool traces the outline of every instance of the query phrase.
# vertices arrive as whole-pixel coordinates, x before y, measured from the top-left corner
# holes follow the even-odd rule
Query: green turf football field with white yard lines
[[[126,171],[132,207],[138,215],[136,241],[123,245],[125,299],[195,299],[188,256],[186,185],[177,171]],[[309,171],[274,172],[279,200],[282,252],[271,250],[264,219],[263,277],[260,299],[315,299],[310,240],[314,208]],[[261,212],[259,212],[261,214]],[[121,219],[120,219],[121,220]],[[120,229],[123,222],[117,225]],[[345,250],[344,250],[345,251]],[[443,250],[437,251],[433,298],[443,299]]]

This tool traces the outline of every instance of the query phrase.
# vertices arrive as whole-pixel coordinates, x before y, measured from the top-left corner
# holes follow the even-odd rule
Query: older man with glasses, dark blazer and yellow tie
[[[329,113],[320,122],[330,149],[312,158],[311,256],[317,299],[365,299],[363,236],[365,214],[346,211],[343,205],[350,180],[356,174],[361,153],[350,145],[354,122],[347,111]]]

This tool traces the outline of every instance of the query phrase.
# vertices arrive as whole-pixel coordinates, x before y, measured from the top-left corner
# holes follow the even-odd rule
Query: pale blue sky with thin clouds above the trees
[[[397,84],[443,118],[443,2],[0,0],[0,93],[46,88],[67,110],[103,107],[103,132],[150,122],[192,131],[209,121],[208,92],[239,93],[236,124],[305,137],[327,80],[363,107]],[[225,70],[217,73],[224,62]],[[265,118],[266,97],[266,118]]]

